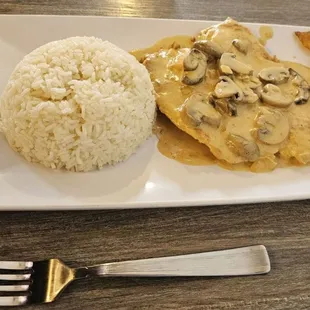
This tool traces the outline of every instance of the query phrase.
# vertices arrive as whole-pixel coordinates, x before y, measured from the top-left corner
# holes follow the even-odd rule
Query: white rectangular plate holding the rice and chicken
[[[177,34],[194,35],[216,22],[74,16],[0,15],[0,93],[19,60],[34,48],[69,36],[97,36],[131,50]],[[245,24],[254,33],[260,25]],[[267,48],[280,59],[310,65],[293,31],[272,25]],[[309,133],[310,134],[310,133]],[[128,161],[91,173],[29,164],[0,136],[0,210],[122,209],[194,206],[310,198],[310,167],[271,173],[193,167],[162,156],[149,139]]]

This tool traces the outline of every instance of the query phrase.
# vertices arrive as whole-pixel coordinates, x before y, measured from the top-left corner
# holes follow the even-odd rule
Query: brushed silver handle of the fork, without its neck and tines
[[[264,274],[270,262],[263,245],[88,267],[100,277],[237,276]]]

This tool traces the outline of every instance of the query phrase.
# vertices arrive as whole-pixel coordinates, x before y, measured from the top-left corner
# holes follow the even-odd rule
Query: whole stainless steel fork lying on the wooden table
[[[59,259],[0,261],[0,306],[48,303],[72,281],[98,277],[241,276],[270,271],[263,245],[69,268]]]

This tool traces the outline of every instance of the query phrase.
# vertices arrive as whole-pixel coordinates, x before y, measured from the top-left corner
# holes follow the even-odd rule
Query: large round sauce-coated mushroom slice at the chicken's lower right
[[[279,144],[289,135],[290,125],[287,117],[280,111],[261,108],[255,118],[257,139],[266,144]]]

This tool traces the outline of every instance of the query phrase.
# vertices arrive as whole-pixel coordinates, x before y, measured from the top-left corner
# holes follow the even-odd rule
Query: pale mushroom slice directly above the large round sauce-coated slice
[[[294,101],[292,97],[283,94],[281,89],[273,84],[265,85],[260,95],[264,103],[277,108],[287,108]]]

